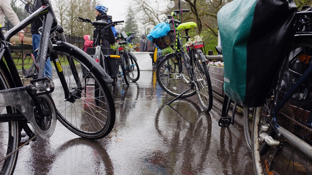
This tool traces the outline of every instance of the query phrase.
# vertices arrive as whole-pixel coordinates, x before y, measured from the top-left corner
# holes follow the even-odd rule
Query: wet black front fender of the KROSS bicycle
[[[88,55],[87,53],[85,53],[83,50],[79,49],[78,47],[71,45],[69,43],[63,42],[63,41],[53,41],[53,47],[63,47],[66,48],[68,50],[72,50],[72,52],[76,52],[79,53],[80,55],[82,55],[83,57],[85,57],[86,59],[88,59],[88,61],[90,61],[90,63],[92,64],[92,66],[94,66],[95,68],[99,69],[99,70],[103,70],[103,68],[100,66],[100,64],[98,64],[95,59],[93,59],[90,55]],[[92,70],[90,70],[92,72]],[[102,79],[107,83],[113,83],[113,79],[110,78],[110,76],[103,70],[101,71],[103,74],[100,75],[102,76]],[[96,73],[94,73],[95,75],[97,75]],[[99,75],[98,75],[99,76]]]

